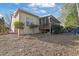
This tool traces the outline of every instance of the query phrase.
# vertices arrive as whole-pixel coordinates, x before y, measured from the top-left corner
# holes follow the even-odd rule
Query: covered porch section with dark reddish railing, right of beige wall
[[[50,31],[53,25],[60,25],[60,22],[52,15],[40,17],[39,23],[39,30],[43,32]]]

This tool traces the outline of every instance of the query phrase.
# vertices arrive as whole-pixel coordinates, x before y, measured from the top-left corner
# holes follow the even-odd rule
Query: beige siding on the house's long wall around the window
[[[26,20],[28,20],[28,18],[34,23],[39,25],[39,19],[37,17],[34,17],[32,15],[26,14],[26,13],[22,13],[20,12],[19,14],[19,20],[22,21],[24,23],[24,30],[21,31],[21,34],[34,34],[34,33],[39,33],[39,28],[29,28],[29,26],[26,25]]]

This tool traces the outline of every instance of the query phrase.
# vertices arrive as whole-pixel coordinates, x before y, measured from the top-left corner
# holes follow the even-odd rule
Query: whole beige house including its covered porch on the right
[[[22,21],[24,23],[24,29],[20,30],[20,34],[40,33],[42,30],[49,30],[50,23],[53,25],[60,24],[60,22],[52,15],[39,17],[21,9],[17,9],[12,16],[11,30],[13,32],[17,32],[14,27],[15,21]]]

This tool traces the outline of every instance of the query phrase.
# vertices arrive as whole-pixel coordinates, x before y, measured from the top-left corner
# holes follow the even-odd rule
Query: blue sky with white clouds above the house
[[[11,14],[13,14],[17,8],[37,16],[53,15],[59,17],[62,7],[62,3],[0,3],[0,15],[4,16],[8,23],[11,21]]]

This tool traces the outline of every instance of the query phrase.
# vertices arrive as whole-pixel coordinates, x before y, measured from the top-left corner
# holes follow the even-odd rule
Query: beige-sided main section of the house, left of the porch
[[[39,33],[39,28],[34,27],[30,28],[31,24],[34,25],[39,25],[39,17],[36,15],[33,15],[29,12],[26,12],[21,9],[17,9],[12,16],[12,23],[11,23],[11,29],[13,32],[17,32],[15,27],[14,27],[14,22],[15,21],[22,21],[24,23],[24,29],[20,30],[21,34],[33,34],[33,33]]]

